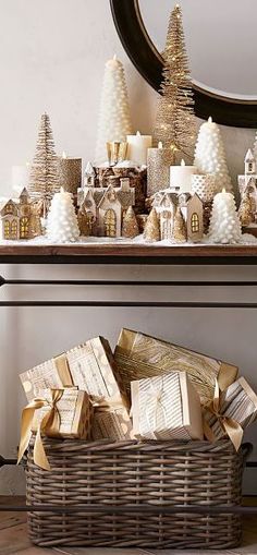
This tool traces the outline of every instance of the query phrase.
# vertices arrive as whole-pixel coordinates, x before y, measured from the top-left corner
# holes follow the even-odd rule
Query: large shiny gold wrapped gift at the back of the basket
[[[212,399],[216,379],[223,390],[237,376],[232,364],[130,329],[122,329],[114,359],[127,394],[132,381],[175,370],[188,374],[203,405]]]

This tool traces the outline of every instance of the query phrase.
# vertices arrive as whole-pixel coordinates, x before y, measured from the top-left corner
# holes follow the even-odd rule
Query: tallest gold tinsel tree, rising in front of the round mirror
[[[159,99],[154,141],[176,153],[192,156],[195,142],[195,117],[192,80],[185,48],[182,11],[171,12],[163,52],[163,80]]]

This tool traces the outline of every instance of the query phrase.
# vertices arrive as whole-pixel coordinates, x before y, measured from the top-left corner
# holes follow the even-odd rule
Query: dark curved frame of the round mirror
[[[160,91],[163,62],[142,20],[138,0],[110,0],[111,12],[121,43],[140,75]],[[215,95],[193,85],[195,113],[212,116],[217,123],[235,128],[257,128],[257,100],[236,100]]]

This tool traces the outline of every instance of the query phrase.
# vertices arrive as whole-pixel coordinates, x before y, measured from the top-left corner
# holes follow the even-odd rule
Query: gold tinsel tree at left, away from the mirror
[[[36,153],[33,159],[28,191],[32,197],[44,201],[48,210],[54,193],[60,190],[59,162],[54,149],[50,118],[44,113],[40,119]]]

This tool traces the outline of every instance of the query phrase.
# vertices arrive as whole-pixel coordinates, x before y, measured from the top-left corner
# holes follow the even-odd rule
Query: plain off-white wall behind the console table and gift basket
[[[11,166],[30,159],[37,123],[44,110],[51,116],[57,148],[70,155],[93,158],[96,120],[105,61],[114,52],[124,62],[133,121],[150,132],[157,95],[134,70],[117,36],[108,0],[0,0],[0,195],[10,191]],[[249,130],[222,129],[231,172],[243,168],[243,157],[253,141]],[[0,267],[4,277],[134,277],[150,278],[256,278],[255,268],[183,267]],[[17,287],[1,290],[2,298],[87,298],[95,290],[53,290]],[[109,292],[137,299],[172,299],[172,292],[134,290]],[[107,298],[106,288],[98,291]],[[173,298],[254,300],[244,290],[186,289]],[[196,297],[197,295],[197,297]],[[172,311],[121,309],[1,309],[0,453],[13,455],[19,437],[19,414],[24,397],[17,374],[86,338],[101,334],[114,345],[122,326],[172,339],[196,350],[235,362],[257,388],[256,313],[254,311]],[[256,436],[253,427],[249,437]],[[257,458],[257,454],[256,454]],[[0,493],[17,491],[13,471],[0,471]]]

